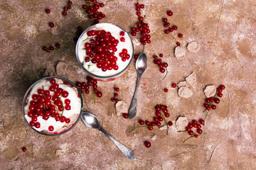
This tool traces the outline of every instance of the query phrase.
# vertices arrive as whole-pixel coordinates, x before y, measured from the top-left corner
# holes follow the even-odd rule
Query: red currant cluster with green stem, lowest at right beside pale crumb
[[[181,132],[188,132],[189,135],[191,135],[191,137],[198,137],[198,134],[201,135],[201,133],[203,132],[203,130],[201,130],[201,125],[204,124],[204,120],[200,119],[198,121],[196,120],[192,120],[192,123],[188,123],[188,126],[186,127],[185,131],[181,131]],[[196,132],[198,132],[198,134],[196,134],[196,132],[193,132],[193,128],[196,128]],[[192,136],[193,135],[193,136]],[[190,139],[191,137],[188,137],[186,140]],[[186,142],[186,140],[184,140],[183,142]]]

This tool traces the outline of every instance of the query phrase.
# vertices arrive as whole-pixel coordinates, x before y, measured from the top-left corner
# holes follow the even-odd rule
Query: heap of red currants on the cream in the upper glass
[[[96,64],[97,68],[102,69],[102,72],[111,69],[117,70],[117,57],[114,56],[114,52],[117,51],[119,40],[115,39],[110,32],[105,30],[89,30],[87,35],[87,39],[90,39],[90,42],[85,42],[87,55],[85,62]],[[122,61],[130,57],[127,54],[127,49],[123,49],[119,56],[122,56]]]

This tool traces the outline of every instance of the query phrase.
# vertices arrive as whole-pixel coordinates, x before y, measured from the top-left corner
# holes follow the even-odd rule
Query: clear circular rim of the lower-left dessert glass
[[[40,131],[36,130],[35,128],[32,128],[31,125],[29,125],[28,120],[25,118],[25,115],[26,115],[26,114],[25,114],[25,111],[24,111],[24,107],[25,107],[25,103],[26,103],[26,99],[27,99],[27,97],[28,97],[28,94],[31,92],[31,89],[33,88],[33,86],[35,86],[36,84],[38,84],[38,82],[40,82],[40,81],[43,81],[43,80],[45,80],[45,79],[53,79],[53,78],[62,79],[62,80],[64,80],[64,81],[68,81],[69,84],[71,84],[72,86],[75,87],[75,89],[78,91],[78,95],[79,95],[80,100],[81,100],[81,109],[80,109],[80,114],[78,115],[78,119],[75,120],[75,123],[74,123],[70,128],[68,128],[68,130],[65,130],[65,131],[63,131],[63,132],[56,133],[56,134],[47,134],[47,133],[40,132]],[[23,117],[24,117],[24,119],[26,120],[26,123],[29,125],[30,128],[32,128],[33,130],[35,130],[36,132],[38,132],[38,133],[40,133],[40,134],[42,134],[42,135],[46,135],[46,136],[57,136],[57,135],[62,135],[62,134],[64,134],[65,132],[68,132],[69,130],[71,130],[72,128],[75,127],[75,125],[78,123],[78,121],[80,120],[81,115],[82,115],[82,105],[83,105],[82,94],[80,93],[80,90],[78,89],[78,87],[75,86],[75,84],[74,84],[72,81],[70,81],[69,79],[65,79],[65,78],[63,78],[63,77],[50,76],[50,77],[43,77],[42,79],[38,79],[36,82],[34,82],[34,83],[28,88],[28,90],[26,91],[26,94],[25,94],[24,97],[23,97],[23,101],[22,101],[22,112],[23,112]]]

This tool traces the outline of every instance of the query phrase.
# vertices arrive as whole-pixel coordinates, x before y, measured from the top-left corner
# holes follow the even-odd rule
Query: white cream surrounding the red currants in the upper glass
[[[114,70],[107,70],[106,72],[103,72],[102,69],[97,68],[96,64],[92,64],[92,62],[85,62],[85,57],[86,56],[86,50],[85,50],[85,43],[90,42],[89,40],[84,41],[86,38],[88,38],[87,33],[84,33],[82,37],[78,41],[78,57],[80,62],[82,63],[83,67],[87,69],[88,72],[91,72],[92,74],[95,74],[100,77],[109,77],[114,74],[118,74],[119,72],[122,72],[125,67],[129,64],[130,60],[132,60],[132,55],[133,55],[133,46],[132,46],[132,40],[129,37],[128,33],[119,28],[118,26],[115,26],[114,24],[111,23],[97,23],[95,26],[92,26],[90,30],[105,30],[106,32],[110,32],[111,35],[119,40],[119,43],[117,45],[117,51],[114,52],[114,56],[117,57],[117,66],[119,69]],[[124,36],[120,36],[119,33],[121,31],[124,31]],[[124,37],[125,42],[121,42],[120,38]],[[129,60],[126,60],[125,62],[122,61],[122,58],[119,57],[119,53],[122,52],[123,49],[127,49],[127,53],[130,55]],[[90,67],[88,67],[90,65]]]

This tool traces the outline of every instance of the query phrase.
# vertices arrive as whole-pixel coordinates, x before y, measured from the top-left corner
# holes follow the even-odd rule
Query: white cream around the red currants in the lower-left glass
[[[41,124],[40,128],[35,128],[34,126],[32,128],[36,129],[37,131],[43,131],[43,132],[61,132],[64,129],[68,129],[68,126],[70,128],[70,126],[75,123],[75,120],[78,118],[78,115],[80,114],[80,110],[81,110],[81,100],[78,97],[77,91],[75,91],[72,87],[63,84],[63,81],[60,79],[55,79],[56,82],[59,84],[59,87],[62,88],[65,91],[68,91],[68,99],[70,99],[70,110],[67,111],[64,109],[63,111],[63,115],[65,116],[65,118],[70,118],[70,123],[61,123],[60,121],[56,121],[55,118],[49,117],[48,120],[43,120],[42,116],[38,116],[38,120],[37,122]],[[48,90],[49,87],[51,86],[50,81],[49,80],[42,80],[40,82],[38,82],[38,84],[36,84],[35,86],[33,86],[33,88],[31,89],[30,95],[28,96],[27,100],[27,105],[24,106],[24,112],[25,112],[25,118],[28,121],[28,123],[31,121],[32,118],[28,117],[28,111],[29,111],[29,105],[31,103],[31,101],[33,101],[32,99],[32,95],[33,94],[38,94],[37,91],[38,89],[43,89]],[[50,95],[53,95],[53,91],[50,91]],[[65,99],[66,98],[60,98],[63,101],[64,104],[64,108],[65,108]],[[62,113],[62,112],[59,112]],[[48,127],[52,125],[53,126],[53,131],[49,131]]]

